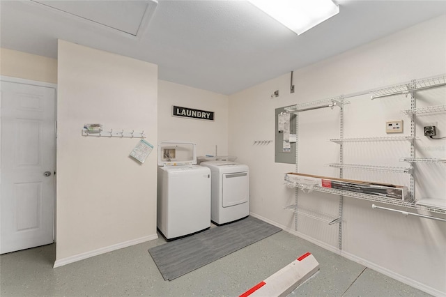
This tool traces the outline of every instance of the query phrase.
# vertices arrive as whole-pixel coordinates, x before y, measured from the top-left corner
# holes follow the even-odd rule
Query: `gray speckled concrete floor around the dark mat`
[[[321,270],[290,296],[429,296],[337,254],[280,231],[169,282],[141,243],[59,268],[55,245],[0,256],[0,295],[238,296],[296,257],[311,252]]]

